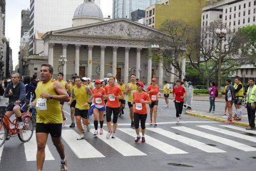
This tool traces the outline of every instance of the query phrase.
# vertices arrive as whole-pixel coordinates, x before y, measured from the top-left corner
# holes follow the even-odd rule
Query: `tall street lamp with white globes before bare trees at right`
[[[219,41],[220,41],[220,51],[219,51],[219,68],[218,68],[218,91],[220,92],[221,90],[221,58],[222,58],[222,40],[223,38],[225,37],[226,33],[227,33],[227,30],[226,29],[219,29],[217,28],[215,30],[215,33],[216,35],[218,36],[219,38]]]

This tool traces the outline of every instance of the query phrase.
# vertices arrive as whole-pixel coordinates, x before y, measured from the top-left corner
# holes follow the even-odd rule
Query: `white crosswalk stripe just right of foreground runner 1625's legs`
[[[79,135],[74,130],[62,130],[61,137],[79,159],[105,157],[86,140],[76,140]]]

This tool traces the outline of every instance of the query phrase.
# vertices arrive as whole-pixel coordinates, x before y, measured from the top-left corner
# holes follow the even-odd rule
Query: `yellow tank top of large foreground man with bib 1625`
[[[36,102],[40,98],[40,94],[49,93],[52,95],[57,95],[53,90],[53,84],[56,83],[54,80],[50,80],[47,83],[42,83],[42,81],[37,83],[35,90]],[[59,101],[54,99],[47,99],[47,110],[36,110],[36,122],[37,123],[62,123],[62,113],[60,110]]]

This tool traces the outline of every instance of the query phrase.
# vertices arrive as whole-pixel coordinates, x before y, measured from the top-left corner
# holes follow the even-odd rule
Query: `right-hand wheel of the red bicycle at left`
[[[18,138],[22,142],[28,142],[32,138],[34,133],[33,121],[32,121],[32,118],[30,118],[29,116],[25,116],[23,118],[23,122],[24,122],[23,132],[18,133]]]

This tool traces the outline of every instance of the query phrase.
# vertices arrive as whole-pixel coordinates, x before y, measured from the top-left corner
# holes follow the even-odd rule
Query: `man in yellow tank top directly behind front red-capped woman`
[[[128,94],[128,106],[130,109],[130,118],[131,118],[131,127],[134,127],[134,119],[133,119],[133,93],[136,92],[137,85],[136,85],[136,75],[131,75],[131,82],[126,84],[126,91]]]

